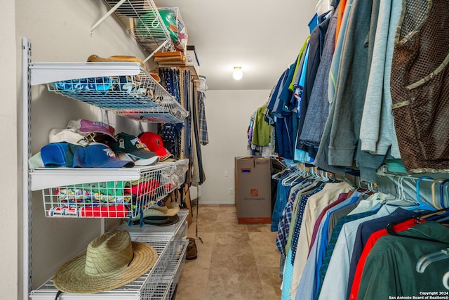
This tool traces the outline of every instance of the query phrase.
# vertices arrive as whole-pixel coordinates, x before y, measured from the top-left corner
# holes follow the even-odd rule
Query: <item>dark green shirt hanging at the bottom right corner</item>
[[[416,264],[422,256],[449,247],[449,228],[429,221],[400,234],[435,241],[395,235],[385,235],[377,240],[363,268],[358,300],[401,299],[397,296],[410,296],[413,299],[413,296],[424,296],[424,292],[437,292],[437,296],[438,292],[448,292],[442,278],[449,271],[449,257],[430,263],[424,273],[417,272]]]

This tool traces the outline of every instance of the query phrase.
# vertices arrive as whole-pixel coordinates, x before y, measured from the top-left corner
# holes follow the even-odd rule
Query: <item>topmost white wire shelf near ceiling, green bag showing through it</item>
[[[128,32],[148,53],[175,51],[173,39],[152,0],[104,0]]]

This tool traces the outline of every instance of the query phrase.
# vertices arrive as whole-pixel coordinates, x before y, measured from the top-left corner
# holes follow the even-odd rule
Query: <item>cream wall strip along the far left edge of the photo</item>
[[[18,299],[18,127],[15,57],[15,6],[14,1],[3,1],[0,20],[1,47],[0,57],[0,138],[3,146],[0,150],[0,298]]]

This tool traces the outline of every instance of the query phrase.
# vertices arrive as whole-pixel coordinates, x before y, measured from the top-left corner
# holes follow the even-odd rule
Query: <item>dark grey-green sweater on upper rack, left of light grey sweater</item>
[[[375,182],[375,171],[384,155],[361,151],[359,134],[373,55],[380,0],[355,0],[352,4],[335,90],[335,112],[329,136],[328,163],[361,169],[362,180]],[[342,33],[340,33],[342,34]]]

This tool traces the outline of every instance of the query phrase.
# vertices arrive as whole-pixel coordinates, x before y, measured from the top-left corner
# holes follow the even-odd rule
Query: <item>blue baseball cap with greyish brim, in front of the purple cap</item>
[[[79,147],[74,152],[74,168],[121,168],[134,167],[134,162],[120,160],[114,151],[101,143],[91,143],[86,147]]]

